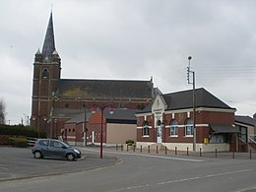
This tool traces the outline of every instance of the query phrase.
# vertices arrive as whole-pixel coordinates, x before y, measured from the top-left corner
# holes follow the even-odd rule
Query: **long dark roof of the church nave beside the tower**
[[[151,81],[61,79],[56,96],[152,98]]]

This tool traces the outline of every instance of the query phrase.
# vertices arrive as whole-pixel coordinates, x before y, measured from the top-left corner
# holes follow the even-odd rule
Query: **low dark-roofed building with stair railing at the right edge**
[[[235,115],[235,127],[239,129],[239,152],[256,150],[256,120],[250,116]]]

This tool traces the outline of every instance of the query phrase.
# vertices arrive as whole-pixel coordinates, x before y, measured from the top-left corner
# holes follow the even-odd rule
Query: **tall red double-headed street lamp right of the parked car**
[[[114,110],[113,110],[113,106],[110,104],[106,104],[106,105],[98,105],[98,104],[94,104],[92,107],[91,107],[91,110],[92,110],[92,113],[96,113],[96,108],[100,109],[100,112],[101,112],[101,127],[100,127],[100,159],[102,159],[102,156],[103,156],[103,114],[104,114],[104,109],[105,108],[108,108],[108,111],[110,114],[113,114],[114,113]]]

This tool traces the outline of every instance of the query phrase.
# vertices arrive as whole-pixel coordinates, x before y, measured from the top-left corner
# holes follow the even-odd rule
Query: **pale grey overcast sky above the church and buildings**
[[[31,116],[34,53],[51,4],[63,79],[150,80],[163,94],[205,88],[236,114],[256,112],[254,0],[1,0],[0,99]]]

